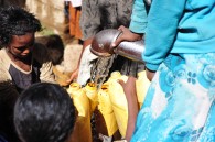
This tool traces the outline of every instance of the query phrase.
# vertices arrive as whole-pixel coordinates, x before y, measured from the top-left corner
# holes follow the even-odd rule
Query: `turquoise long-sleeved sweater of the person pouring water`
[[[136,4],[138,2],[133,9],[138,8]],[[147,68],[157,70],[169,53],[215,52],[214,6],[214,0],[153,0],[142,54]],[[138,13],[141,12],[132,14]],[[140,19],[146,21],[146,17]],[[138,28],[139,22],[131,20],[132,26]]]

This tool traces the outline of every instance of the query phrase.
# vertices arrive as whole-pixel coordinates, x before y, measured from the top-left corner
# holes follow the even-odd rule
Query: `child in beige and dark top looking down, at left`
[[[34,46],[41,30],[40,21],[21,8],[0,10],[0,83],[10,80],[19,92],[37,81],[54,83],[45,48]]]

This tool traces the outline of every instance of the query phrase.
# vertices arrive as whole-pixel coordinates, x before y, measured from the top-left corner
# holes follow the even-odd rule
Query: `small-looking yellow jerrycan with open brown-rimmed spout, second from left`
[[[98,92],[95,83],[88,83],[84,87],[84,90],[86,96],[89,98],[90,113],[93,113],[98,105]]]

